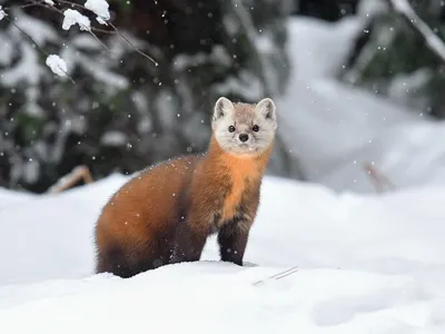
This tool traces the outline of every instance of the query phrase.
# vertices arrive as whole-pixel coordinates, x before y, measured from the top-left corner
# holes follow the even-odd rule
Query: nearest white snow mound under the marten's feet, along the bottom
[[[202,262],[161,267],[128,281],[101,275],[24,289],[6,287],[0,288],[0,323],[14,333],[87,328],[109,334],[191,328],[233,333],[235,327],[237,333],[409,334],[421,333],[418,328],[432,316],[426,303],[444,306],[414,279],[400,276],[301,269],[255,285],[275,272]],[[338,288],[345,282],[347,288]],[[12,304],[4,305],[4,298],[12,298]],[[433,316],[443,320],[438,313]],[[438,328],[431,326],[428,333]]]

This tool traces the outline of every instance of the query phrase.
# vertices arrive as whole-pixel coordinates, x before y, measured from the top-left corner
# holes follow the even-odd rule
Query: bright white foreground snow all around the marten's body
[[[212,237],[198,263],[93,275],[95,220],[127,179],[39,197],[0,189],[4,332],[445,331],[445,188],[336,194],[266,177],[246,266],[219,262]]]

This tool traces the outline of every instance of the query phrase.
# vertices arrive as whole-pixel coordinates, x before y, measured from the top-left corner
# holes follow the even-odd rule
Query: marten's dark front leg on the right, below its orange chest
[[[247,225],[245,222],[239,222],[238,224],[226,224],[219,229],[218,244],[221,261],[243,266],[244,252],[249,236]]]

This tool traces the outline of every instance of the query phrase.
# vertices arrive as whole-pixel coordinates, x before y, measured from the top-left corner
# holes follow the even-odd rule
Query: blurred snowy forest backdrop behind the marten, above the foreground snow
[[[43,193],[79,165],[99,179],[202,151],[212,105],[221,95],[249,102],[264,97],[278,101],[283,126],[270,165],[274,175],[354,189],[358,177],[346,167],[338,169],[346,176],[333,176],[342,161],[374,165],[380,158],[378,167],[397,180],[402,174],[396,170],[418,173],[409,169],[413,160],[431,166],[437,157],[435,173],[424,169],[422,175],[444,175],[444,145],[425,159],[409,146],[405,165],[397,156],[400,145],[384,155],[390,143],[397,143],[394,138],[405,136],[411,139],[404,143],[414,143],[409,134],[417,134],[415,140],[421,140],[418,129],[397,128],[389,137],[387,131],[364,135],[375,125],[369,114],[388,110],[375,117],[397,127],[415,124],[421,115],[428,119],[427,126],[441,125],[437,131],[422,132],[422,138],[433,137],[416,146],[418,151],[425,154],[425,147],[441,141],[445,53],[428,33],[444,40],[442,0],[407,1],[431,30],[425,33],[419,20],[413,22],[399,10],[404,7],[397,3],[405,3],[400,0],[108,0],[110,22],[119,33],[70,2],[85,4],[85,0],[0,1],[7,13],[0,21],[2,187]],[[93,35],[78,27],[61,28],[62,11],[69,8],[89,17]],[[51,72],[48,55],[66,61],[75,84]],[[319,71],[327,63],[325,78]],[[317,75],[318,86],[310,81]],[[337,82],[335,89],[350,92],[333,91],[334,86],[327,92],[329,80]],[[352,104],[350,97],[358,98],[354,89],[364,97]],[[349,116],[339,114],[346,109]],[[357,112],[367,117],[363,130],[355,122]],[[350,154],[336,151],[342,143],[335,140],[342,136]],[[379,144],[363,156],[365,146],[353,145],[357,140]],[[426,178],[413,183],[419,181]]]

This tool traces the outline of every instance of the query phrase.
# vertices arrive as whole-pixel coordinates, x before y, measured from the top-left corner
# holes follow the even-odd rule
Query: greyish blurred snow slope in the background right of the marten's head
[[[363,1],[359,16],[335,23],[290,19],[293,76],[277,102],[280,132],[306,178],[336,190],[374,193],[365,163],[396,187],[445,185],[445,121],[335,78],[377,2]]]

